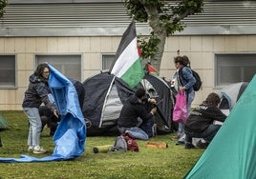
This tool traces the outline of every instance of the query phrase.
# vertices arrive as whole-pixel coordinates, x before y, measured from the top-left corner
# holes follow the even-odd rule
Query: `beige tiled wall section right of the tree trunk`
[[[213,36],[174,36],[166,41],[160,76],[172,78],[175,72],[173,57],[181,50],[187,55],[192,69],[196,70],[203,81],[203,89],[196,92],[193,106],[202,103],[207,94],[219,91],[214,87],[215,53],[256,52],[256,35],[213,35]]]

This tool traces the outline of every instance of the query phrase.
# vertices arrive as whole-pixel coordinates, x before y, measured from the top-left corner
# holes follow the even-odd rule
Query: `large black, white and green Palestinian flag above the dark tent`
[[[122,35],[111,73],[121,78],[132,89],[144,77],[141,53],[138,47],[135,23],[132,22]]]

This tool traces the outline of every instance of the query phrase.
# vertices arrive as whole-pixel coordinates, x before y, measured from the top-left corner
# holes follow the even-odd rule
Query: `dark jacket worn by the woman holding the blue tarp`
[[[29,88],[25,91],[25,98],[23,100],[23,108],[39,108],[42,103],[54,109],[53,103],[48,98],[50,89],[47,80],[42,80],[32,74],[30,76]]]

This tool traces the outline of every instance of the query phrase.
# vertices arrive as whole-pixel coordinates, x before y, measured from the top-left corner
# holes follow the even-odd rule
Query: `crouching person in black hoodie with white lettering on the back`
[[[210,93],[203,104],[192,110],[184,124],[185,149],[192,149],[192,137],[203,138],[197,143],[199,148],[205,149],[211,142],[221,125],[213,124],[214,121],[224,122],[226,115],[218,109],[221,99],[217,93]]]

